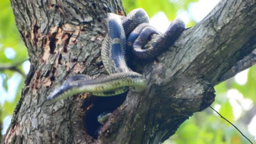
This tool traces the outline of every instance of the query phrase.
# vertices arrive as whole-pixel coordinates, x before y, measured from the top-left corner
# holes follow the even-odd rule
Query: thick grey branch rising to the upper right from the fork
[[[139,65],[137,69],[144,66],[143,74],[149,80],[147,90],[130,92],[106,125],[119,127],[115,131],[122,131],[121,123],[130,125],[132,139],[157,143],[172,135],[195,111],[208,107],[215,96],[213,86],[255,49],[255,5],[255,1],[221,1],[196,26],[183,31],[158,61]],[[116,137],[127,140],[124,133],[113,134],[111,129],[109,133],[108,142],[117,142]]]

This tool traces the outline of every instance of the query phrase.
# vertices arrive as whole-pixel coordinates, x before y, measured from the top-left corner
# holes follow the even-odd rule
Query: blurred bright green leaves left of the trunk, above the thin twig
[[[10,1],[2,0],[0,2],[0,10],[0,65],[18,62],[27,58],[26,47],[15,25]],[[8,58],[10,51],[15,53],[15,57],[12,59]]]

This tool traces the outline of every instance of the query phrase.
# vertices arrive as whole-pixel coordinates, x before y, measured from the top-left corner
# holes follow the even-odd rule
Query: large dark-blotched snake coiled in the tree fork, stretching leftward
[[[145,77],[127,66],[126,53],[132,53],[142,60],[155,58],[173,44],[185,29],[183,21],[174,20],[164,34],[159,34],[149,26],[148,15],[143,9],[135,9],[126,17],[108,13],[105,20],[108,32],[102,44],[101,58],[109,75],[99,78],[83,74],[71,76],[47,97],[48,100],[63,99],[83,92],[111,96],[128,90],[145,90]],[[153,34],[159,35],[157,41],[149,49],[142,49]]]

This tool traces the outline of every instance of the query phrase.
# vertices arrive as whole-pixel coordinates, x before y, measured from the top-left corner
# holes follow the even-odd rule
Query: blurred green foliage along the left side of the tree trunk
[[[3,126],[4,118],[13,114],[20,98],[25,79],[21,75],[25,73],[21,64],[27,59],[28,54],[15,25],[10,0],[0,1],[0,10],[0,130],[2,131],[3,127],[6,127]],[[15,67],[3,69],[11,66]],[[21,81],[16,81],[18,79]],[[11,85],[15,82],[17,87],[13,88]],[[13,98],[10,98],[10,94]]]

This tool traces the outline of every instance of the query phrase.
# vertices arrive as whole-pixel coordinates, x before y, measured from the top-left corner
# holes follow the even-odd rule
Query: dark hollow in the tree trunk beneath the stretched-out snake
[[[88,111],[88,113],[84,117],[84,126],[88,134],[90,134],[94,139],[98,139],[98,131],[102,126],[97,120],[98,115],[106,111],[114,111],[116,108],[122,105],[126,98],[126,95],[127,92],[111,97],[92,96],[93,107],[90,109],[90,111]]]

